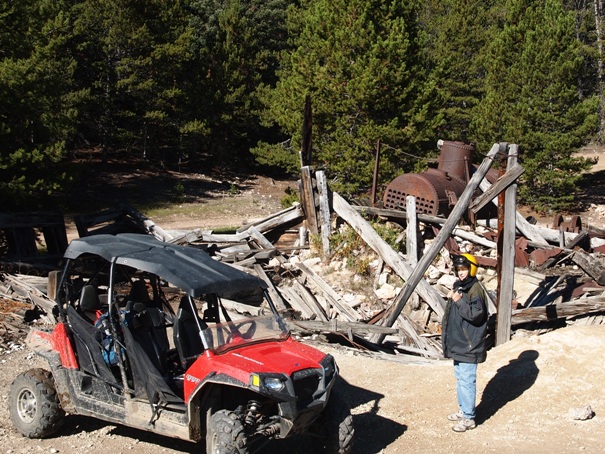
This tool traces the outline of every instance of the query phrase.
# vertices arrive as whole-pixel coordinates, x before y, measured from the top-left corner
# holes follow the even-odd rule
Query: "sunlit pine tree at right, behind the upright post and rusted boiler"
[[[583,59],[574,15],[560,0],[507,0],[496,12],[474,134],[483,147],[519,144],[526,170],[522,200],[542,210],[565,209],[590,165],[572,153],[598,126],[597,98],[581,98],[576,85]]]

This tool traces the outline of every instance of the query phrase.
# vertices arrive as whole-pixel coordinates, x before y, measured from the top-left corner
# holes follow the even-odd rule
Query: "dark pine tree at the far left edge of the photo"
[[[65,2],[5,2],[0,13],[0,201],[23,209],[57,190],[86,94],[73,83]]]

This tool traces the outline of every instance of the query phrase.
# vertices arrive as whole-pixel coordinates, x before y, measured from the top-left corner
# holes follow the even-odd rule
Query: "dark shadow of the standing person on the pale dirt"
[[[478,424],[487,421],[507,403],[531,388],[540,372],[536,366],[538,356],[537,351],[526,350],[496,371],[496,375],[485,386],[481,402],[477,405]]]

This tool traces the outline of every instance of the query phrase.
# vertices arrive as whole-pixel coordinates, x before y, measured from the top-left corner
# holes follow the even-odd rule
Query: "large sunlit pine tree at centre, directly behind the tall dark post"
[[[257,159],[294,170],[305,98],[313,109],[313,165],[332,187],[370,187],[376,143],[384,144],[386,179],[411,166],[438,118],[419,60],[418,5],[410,1],[302,1],[289,16],[293,51],[284,53],[264,121],[281,128],[283,144],[259,144]]]

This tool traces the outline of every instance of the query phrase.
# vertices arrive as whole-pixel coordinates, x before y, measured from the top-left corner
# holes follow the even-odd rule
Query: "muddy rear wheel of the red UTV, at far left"
[[[52,374],[44,369],[18,375],[11,385],[8,405],[11,421],[28,438],[51,436],[65,419]]]

